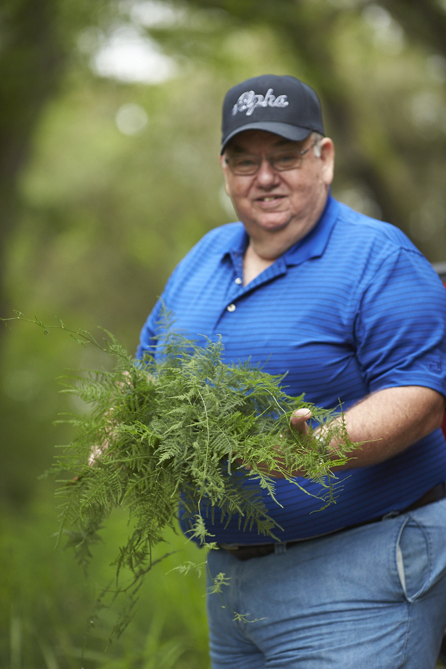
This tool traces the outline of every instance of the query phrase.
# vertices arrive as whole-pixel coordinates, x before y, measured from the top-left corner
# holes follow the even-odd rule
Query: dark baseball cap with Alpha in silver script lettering
[[[324,133],[316,92],[296,77],[263,74],[229,89],[223,102],[221,153],[244,130],[267,130],[298,142]]]

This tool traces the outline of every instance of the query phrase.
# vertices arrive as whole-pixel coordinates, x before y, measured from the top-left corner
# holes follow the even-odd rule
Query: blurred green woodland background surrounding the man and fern
[[[334,195],[446,262],[445,0],[3,0],[0,316],[57,316],[99,336],[102,326],[134,351],[177,262],[235,220],[217,161],[221,101],[269,72],[320,94]],[[170,571],[202,556],[173,534],[178,552],[155,567],[130,627],[104,650],[115,612],[97,618],[94,599],[125,512],[110,518],[85,577],[54,550],[55,482],[38,477],[70,440],[53,425],[58,413],[87,410],[59,393],[58,377],[110,361],[60,330],[9,326],[0,666],[207,668],[203,577]]]

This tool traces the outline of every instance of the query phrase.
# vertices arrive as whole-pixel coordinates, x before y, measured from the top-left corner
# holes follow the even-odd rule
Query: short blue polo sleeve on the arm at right
[[[356,356],[370,392],[421,385],[446,395],[446,290],[431,264],[399,249],[359,300]]]

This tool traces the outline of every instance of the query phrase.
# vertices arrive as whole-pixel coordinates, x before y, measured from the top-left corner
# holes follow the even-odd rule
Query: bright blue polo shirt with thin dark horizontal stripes
[[[380,389],[420,385],[446,395],[446,291],[426,258],[393,225],[328,198],[317,225],[250,284],[243,286],[248,238],[242,223],[211,230],[177,266],[142,328],[137,356],[154,352],[164,302],[175,329],[204,340],[220,334],[223,360],[249,359],[284,374],[290,395],[344,410]],[[440,429],[391,460],[339,472],[336,504],[320,510],[319,484],[275,484],[280,541],[314,537],[403,510],[446,479]],[[258,486],[255,481],[248,483]],[[314,513],[314,511],[318,511]],[[265,543],[208,519],[219,543]],[[270,541],[270,540],[269,540]]]

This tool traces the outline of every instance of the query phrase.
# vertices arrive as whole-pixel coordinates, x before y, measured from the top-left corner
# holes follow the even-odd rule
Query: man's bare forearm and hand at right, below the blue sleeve
[[[441,426],[445,398],[419,385],[399,386],[368,395],[346,413],[344,419],[352,442],[366,442],[352,452],[352,459],[336,469],[352,469],[384,462],[401,453]],[[308,432],[308,414],[292,418],[295,429]],[[329,445],[336,456],[336,444]]]

